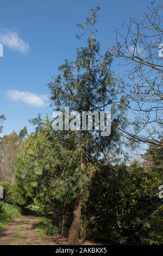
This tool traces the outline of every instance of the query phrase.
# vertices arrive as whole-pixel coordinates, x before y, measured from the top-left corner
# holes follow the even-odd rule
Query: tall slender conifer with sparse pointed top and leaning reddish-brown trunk
[[[111,111],[110,136],[102,137],[101,131],[82,131],[82,122],[81,129],[78,132],[74,131],[73,139],[76,141],[78,152],[80,150],[80,176],[87,175],[88,162],[97,168],[99,162],[108,161],[110,148],[114,147],[115,142],[117,143],[120,139],[116,127],[125,125],[123,114],[126,102],[121,91],[116,87],[116,77],[110,70],[111,54],[106,51],[101,56],[100,44],[95,39],[98,11],[99,7],[91,9],[91,16],[86,18],[85,24],[78,24],[78,27],[84,31],[83,35],[89,33],[87,46],[77,48],[76,60],[68,62],[66,59],[65,63],[59,67],[60,75],[49,83],[52,106],[55,110],[64,111],[64,107],[70,107],[70,111],[78,111],[80,114],[82,111],[86,113]],[[62,132],[62,135],[61,142],[66,143],[65,132]],[[81,182],[80,178],[77,182]],[[82,186],[84,187],[85,183]],[[85,198],[80,190],[74,203],[73,221],[68,237],[70,245],[79,243],[78,230],[84,202]]]

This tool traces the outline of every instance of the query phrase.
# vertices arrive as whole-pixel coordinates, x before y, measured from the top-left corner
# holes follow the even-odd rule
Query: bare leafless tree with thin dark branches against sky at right
[[[145,143],[162,145],[163,126],[163,3],[151,2],[143,19],[115,28],[114,53],[123,59],[130,129],[124,135]],[[161,44],[162,42],[162,44]],[[126,70],[127,69],[127,70]],[[124,80],[123,80],[124,81]]]

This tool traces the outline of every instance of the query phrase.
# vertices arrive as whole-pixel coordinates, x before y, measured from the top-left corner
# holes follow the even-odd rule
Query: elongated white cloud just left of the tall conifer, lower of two
[[[23,101],[29,105],[43,107],[48,100],[47,95],[37,95],[30,92],[20,92],[18,90],[8,90],[7,95],[11,100]]]

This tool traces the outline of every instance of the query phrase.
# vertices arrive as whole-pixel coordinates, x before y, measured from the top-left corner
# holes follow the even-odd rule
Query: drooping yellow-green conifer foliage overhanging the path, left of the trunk
[[[21,150],[15,167],[17,203],[26,204],[30,198],[70,203],[78,193],[87,196],[88,179],[79,169],[80,148],[73,154],[63,148],[48,120]]]

